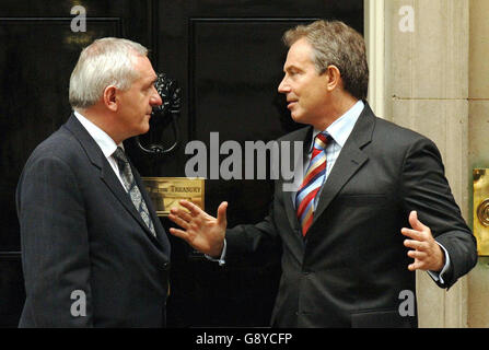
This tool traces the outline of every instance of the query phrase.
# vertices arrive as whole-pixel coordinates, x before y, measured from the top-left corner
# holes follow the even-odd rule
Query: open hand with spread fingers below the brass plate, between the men
[[[209,215],[199,207],[187,200],[181,200],[182,208],[172,208],[168,219],[181,229],[170,229],[170,233],[187,242],[193,248],[212,257],[221,256],[224,246],[228,220],[225,211],[228,202],[223,201],[218,208],[218,218]]]

